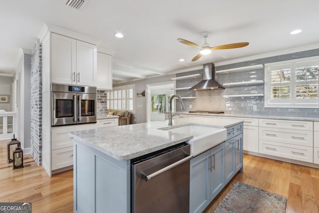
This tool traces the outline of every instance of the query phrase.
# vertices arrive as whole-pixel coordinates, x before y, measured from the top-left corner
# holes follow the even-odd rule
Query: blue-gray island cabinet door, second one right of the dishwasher
[[[210,150],[210,160],[209,203],[225,186],[225,143],[221,143]]]

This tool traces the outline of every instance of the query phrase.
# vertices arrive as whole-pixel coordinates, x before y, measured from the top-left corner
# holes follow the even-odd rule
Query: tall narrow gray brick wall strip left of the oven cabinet
[[[42,163],[42,45],[39,40],[31,53],[31,155]]]

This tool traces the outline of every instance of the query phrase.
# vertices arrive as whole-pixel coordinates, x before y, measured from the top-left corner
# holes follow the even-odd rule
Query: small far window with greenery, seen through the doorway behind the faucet
[[[173,94],[152,95],[152,113],[169,112],[169,100]],[[173,108],[172,100],[172,108]],[[173,110],[173,109],[172,109]]]

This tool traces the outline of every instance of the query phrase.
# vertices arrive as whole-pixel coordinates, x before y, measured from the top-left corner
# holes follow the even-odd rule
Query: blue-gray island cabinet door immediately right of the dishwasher
[[[210,151],[190,160],[189,212],[201,213],[210,203]]]

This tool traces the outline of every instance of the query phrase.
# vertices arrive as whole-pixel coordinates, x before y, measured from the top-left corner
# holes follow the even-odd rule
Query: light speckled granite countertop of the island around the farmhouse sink
[[[87,144],[117,160],[127,161],[193,138],[192,135],[173,133],[159,129],[196,124],[215,128],[227,128],[243,121],[223,118],[193,117],[168,121],[96,128],[70,132],[74,139]]]

